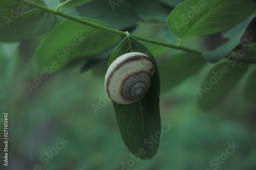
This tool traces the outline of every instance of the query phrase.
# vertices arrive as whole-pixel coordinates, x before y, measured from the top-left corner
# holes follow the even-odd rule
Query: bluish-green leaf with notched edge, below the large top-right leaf
[[[239,23],[237,26],[224,31],[222,33],[223,38],[228,38],[229,41],[222,44],[216,50],[211,52],[203,52],[204,58],[210,63],[217,63],[226,57],[240,43],[240,39],[244,34],[246,28],[249,26],[250,21],[256,16],[256,13]],[[251,39],[252,40],[252,39]],[[249,42],[249,40],[247,40]],[[249,42],[251,43],[251,42]]]

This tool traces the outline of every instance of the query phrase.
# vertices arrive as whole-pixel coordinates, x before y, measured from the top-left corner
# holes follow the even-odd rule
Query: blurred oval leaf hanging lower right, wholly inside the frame
[[[221,102],[225,95],[239,82],[248,69],[247,63],[236,59],[215,65],[197,88],[199,106],[208,110]]]

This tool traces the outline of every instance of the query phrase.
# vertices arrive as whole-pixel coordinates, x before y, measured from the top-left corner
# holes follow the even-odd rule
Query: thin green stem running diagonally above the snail
[[[63,18],[73,20],[73,21],[81,23],[83,25],[90,26],[90,27],[100,29],[100,30],[104,30],[104,31],[108,31],[108,32],[111,32],[111,33],[114,33],[114,34],[117,34],[117,35],[120,35],[120,36],[127,36],[126,32],[119,31],[119,30],[116,30],[116,29],[112,29],[112,28],[109,28],[109,27],[104,27],[104,26],[98,25],[97,23],[86,21],[86,20],[83,20],[81,18],[74,17],[72,15],[69,15],[69,14],[66,14],[66,13],[63,13],[63,12],[59,12],[59,9],[60,9],[61,5],[58,6],[58,8],[55,11],[55,10],[52,10],[52,9],[48,8],[47,6],[42,6],[42,5],[37,4],[35,2],[30,2],[28,0],[23,0],[23,1],[26,2],[26,3],[29,3],[30,5],[38,8],[38,9],[41,9],[41,10],[47,11],[49,13],[61,16]],[[169,48],[174,48],[174,49],[182,50],[182,51],[189,52],[189,53],[202,54],[201,51],[193,50],[193,49],[190,49],[190,48],[187,48],[187,47],[184,47],[184,46],[178,46],[178,45],[170,44],[170,43],[167,43],[167,42],[157,41],[157,40],[154,40],[154,39],[138,36],[138,35],[135,35],[135,34],[130,34],[130,35],[132,37],[134,37],[138,40],[144,41],[144,42],[149,42],[149,43],[153,43],[153,44],[157,44],[157,45],[161,45],[161,46],[166,46],[166,47],[169,47]]]

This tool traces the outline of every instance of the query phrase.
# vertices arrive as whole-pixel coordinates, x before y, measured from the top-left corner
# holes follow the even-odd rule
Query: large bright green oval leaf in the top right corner
[[[170,13],[167,25],[182,39],[203,36],[238,25],[255,9],[253,0],[187,0]]]

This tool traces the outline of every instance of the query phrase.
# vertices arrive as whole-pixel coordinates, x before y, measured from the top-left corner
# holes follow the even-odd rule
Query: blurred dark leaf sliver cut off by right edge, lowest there
[[[254,68],[250,72],[250,76],[247,80],[247,83],[244,87],[244,99],[248,103],[255,104],[256,103],[256,69]]]

